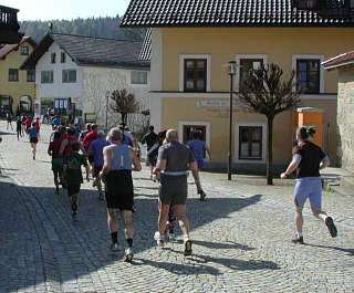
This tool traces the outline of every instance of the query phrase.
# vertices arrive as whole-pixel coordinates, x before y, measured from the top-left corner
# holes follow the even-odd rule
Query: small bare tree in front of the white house
[[[111,94],[111,98],[114,101],[111,108],[121,114],[123,125],[127,124],[128,114],[136,113],[139,109],[139,104],[135,101],[134,94],[128,93],[125,88],[115,90]]]

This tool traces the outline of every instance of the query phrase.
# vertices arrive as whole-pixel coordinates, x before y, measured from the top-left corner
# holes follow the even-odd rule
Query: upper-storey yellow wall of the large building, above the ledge
[[[163,29],[163,90],[178,91],[179,54],[211,55],[211,92],[228,91],[222,66],[236,54],[267,54],[268,63],[291,71],[292,54],[324,55],[324,60],[354,48],[353,29],[178,28]],[[325,72],[324,92],[336,93],[337,72]]]

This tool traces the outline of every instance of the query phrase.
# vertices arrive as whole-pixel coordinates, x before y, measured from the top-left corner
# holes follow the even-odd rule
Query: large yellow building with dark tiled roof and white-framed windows
[[[337,73],[324,72],[321,62],[353,48],[353,1],[335,0],[132,0],[121,25],[152,28],[152,124],[178,129],[181,142],[192,129],[202,130],[214,154],[206,165],[212,168],[225,168],[228,160],[226,64],[237,62],[233,163],[237,169],[259,170],[266,166],[267,118],[244,111],[237,92],[249,69],[261,63],[275,63],[285,75],[294,70],[304,90],[302,109],[275,116],[274,166],[291,159],[294,129],[304,121],[293,115],[320,130],[316,139],[335,164]]]

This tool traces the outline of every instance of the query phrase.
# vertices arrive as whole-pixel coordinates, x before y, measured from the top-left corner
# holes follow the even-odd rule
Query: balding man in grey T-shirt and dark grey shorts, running
[[[169,206],[174,205],[178,224],[184,233],[185,257],[191,254],[191,241],[189,239],[189,221],[186,216],[187,201],[187,170],[197,170],[197,161],[191,151],[185,145],[178,143],[178,134],[169,129],[166,134],[167,144],[158,150],[157,164],[154,174],[160,172],[160,186],[158,189],[162,207],[158,216],[158,231],[154,239],[157,245],[164,245],[167,214]]]

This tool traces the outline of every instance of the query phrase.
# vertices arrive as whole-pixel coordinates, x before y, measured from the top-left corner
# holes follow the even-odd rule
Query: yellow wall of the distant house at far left
[[[29,46],[29,54],[33,51],[33,46],[25,42],[23,45]],[[0,60],[0,95],[10,95],[13,98],[12,112],[15,114],[20,98],[30,96],[32,107],[34,107],[34,82],[27,82],[27,71],[19,70],[19,81],[9,82],[9,69],[19,69],[28,55],[21,55],[21,49],[12,51],[4,60]]]

